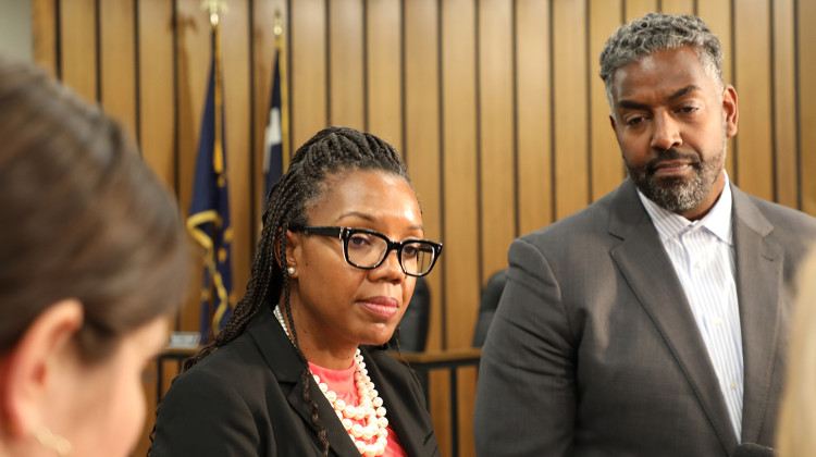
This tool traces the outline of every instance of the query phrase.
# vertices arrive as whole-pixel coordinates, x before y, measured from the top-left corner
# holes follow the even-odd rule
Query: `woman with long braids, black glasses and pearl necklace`
[[[159,406],[151,456],[438,455],[418,380],[382,350],[442,250],[422,238],[391,145],[309,139],[268,197],[246,296]]]

